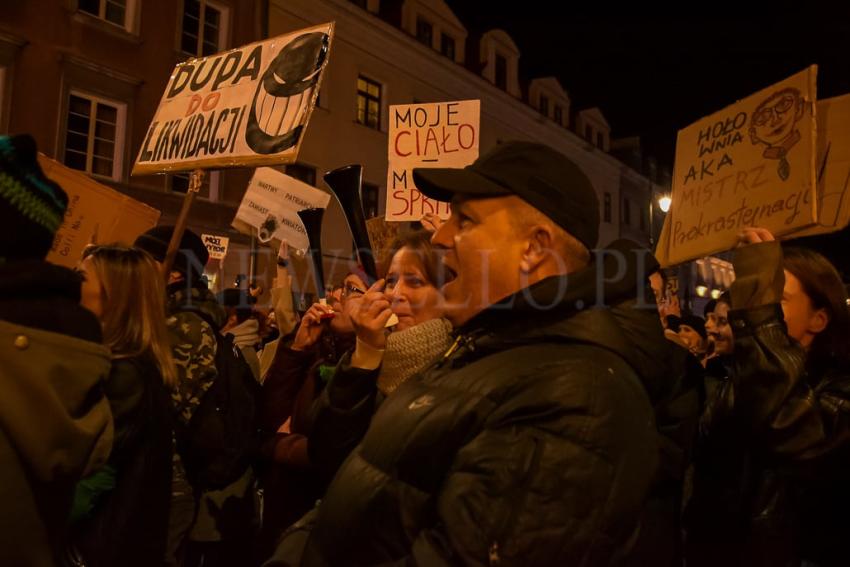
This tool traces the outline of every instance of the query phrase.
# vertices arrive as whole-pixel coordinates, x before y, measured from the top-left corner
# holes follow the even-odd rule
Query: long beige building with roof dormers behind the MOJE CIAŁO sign
[[[322,186],[323,172],[362,164],[366,202],[376,202],[373,212],[382,214],[390,105],[480,99],[482,153],[517,139],[558,149],[583,169],[599,194],[600,244],[620,237],[648,243],[650,195],[669,189],[609,153],[611,127],[601,111],[572,114],[557,79],[521,84],[520,48],[507,33],[471,34],[441,0],[271,0],[269,5],[272,36],[328,21],[336,24],[330,60],[299,154],[305,178]],[[332,226],[342,223],[336,203],[327,216]],[[326,250],[351,247],[347,233],[334,230],[326,230],[324,245]]]

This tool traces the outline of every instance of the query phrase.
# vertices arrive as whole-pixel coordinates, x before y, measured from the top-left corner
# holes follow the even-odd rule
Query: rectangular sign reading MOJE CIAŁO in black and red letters
[[[448,203],[424,197],[414,167],[465,167],[478,158],[481,101],[390,106],[388,221],[416,221],[427,213],[446,219]]]

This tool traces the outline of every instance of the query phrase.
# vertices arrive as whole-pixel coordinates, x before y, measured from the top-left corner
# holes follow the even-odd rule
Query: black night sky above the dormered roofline
[[[599,106],[613,138],[640,135],[666,165],[679,129],[813,63],[818,98],[850,92],[846,2],[448,3],[471,31],[507,31],[523,78],[556,76],[574,109]]]

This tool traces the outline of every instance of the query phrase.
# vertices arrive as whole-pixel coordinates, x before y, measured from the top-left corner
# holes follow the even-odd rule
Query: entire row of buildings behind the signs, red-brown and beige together
[[[389,106],[481,100],[480,150],[533,140],[570,156],[599,195],[600,245],[647,242],[668,191],[641,163],[615,157],[597,108],[576,111],[554,77],[520,80],[520,46],[502,30],[470,32],[442,0],[35,0],[0,4],[0,132],[30,133],[41,151],[162,211],[173,223],[188,175],[131,177],[174,66],[189,57],[336,23],[319,100],[298,163],[281,169],[317,187],[342,165],[364,166],[367,216],[386,200]],[[209,172],[189,226],[231,239],[216,287],[251,272],[249,238],[230,228],[251,170]],[[658,212],[656,211],[656,215]],[[653,219],[652,221],[650,219]],[[328,279],[352,243],[335,200],[322,237]],[[253,268],[270,283],[273,258]],[[268,285],[266,285],[268,288]]]

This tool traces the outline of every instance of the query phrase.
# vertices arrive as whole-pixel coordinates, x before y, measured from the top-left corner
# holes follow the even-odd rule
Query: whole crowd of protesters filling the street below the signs
[[[413,176],[448,220],[304,312],[284,243],[264,311],[188,230],[168,268],[170,226],[46,262],[67,196],[0,137],[0,564],[850,564],[823,256],[745,229],[699,316],[649,251],[597,248],[546,146]]]

